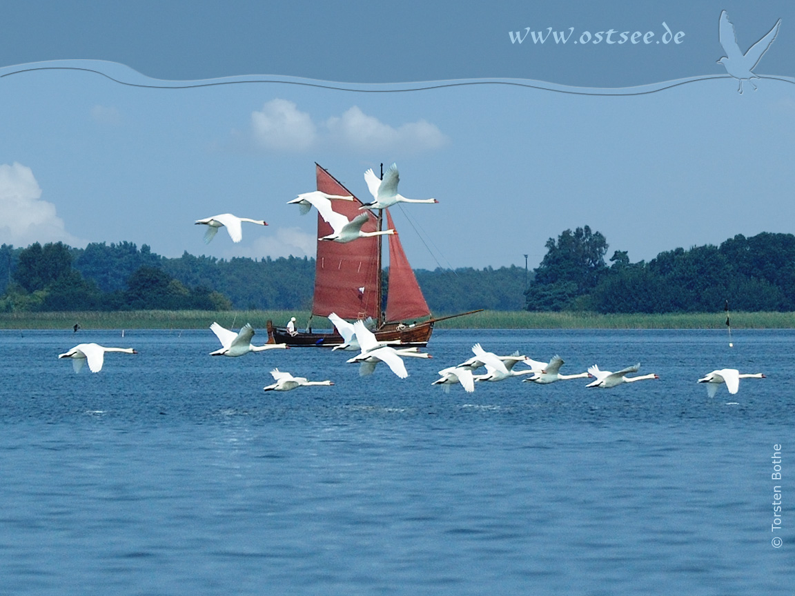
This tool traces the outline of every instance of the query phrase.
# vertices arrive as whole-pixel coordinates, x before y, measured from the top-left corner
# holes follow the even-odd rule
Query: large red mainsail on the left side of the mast
[[[353,195],[339,184],[334,176],[316,165],[317,190],[329,195]],[[334,211],[347,219],[362,213],[359,199],[346,201],[332,199]],[[374,232],[378,219],[370,211],[370,221],[362,226],[366,232]],[[317,216],[317,237],[332,234],[332,226]],[[354,242],[318,241],[315,266],[315,299],[312,314],[328,316],[337,313],[343,319],[378,318],[378,242],[380,238],[359,238]],[[405,257],[404,257],[405,258]],[[414,282],[417,283],[416,281]]]

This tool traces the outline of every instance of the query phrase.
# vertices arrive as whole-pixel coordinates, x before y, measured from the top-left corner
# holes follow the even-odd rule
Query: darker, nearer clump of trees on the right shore
[[[737,234],[720,246],[677,248],[648,263],[616,250],[588,226],[549,238],[525,292],[529,311],[602,313],[795,311],[795,236]]]

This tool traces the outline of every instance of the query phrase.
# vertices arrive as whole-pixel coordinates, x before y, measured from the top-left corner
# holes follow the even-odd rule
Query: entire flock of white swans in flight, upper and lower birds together
[[[332,227],[332,234],[328,234],[319,240],[331,242],[353,242],[358,238],[366,238],[370,236],[377,236],[381,234],[396,234],[395,230],[381,230],[374,232],[363,232],[362,226],[369,219],[366,210],[370,209],[386,209],[392,207],[396,203],[438,203],[436,199],[406,199],[403,195],[398,194],[397,184],[400,181],[400,174],[397,171],[397,165],[392,164],[386,170],[382,179],[375,175],[372,169],[364,172],[364,180],[370,194],[373,195],[373,201],[370,203],[363,203],[359,207],[360,211],[365,211],[357,215],[354,219],[347,219],[345,215],[337,213],[332,209],[332,200],[347,200],[352,201],[352,195],[330,195],[325,192],[313,191],[305,192],[298,195],[296,199],[288,202],[288,204],[295,204],[301,210],[301,215],[307,214],[312,207],[315,207],[320,217],[324,219]],[[232,242],[240,242],[242,240],[242,222],[255,223],[261,226],[268,224],[261,219],[248,219],[231,215],[230,213],[223,213],[221,215],[213,215],[206,219],[196,220],[197,225],[207,226],[207,231],[204,234],[204,242],[209,243],[215,234],[218,233],[219,228],[226,227]],[[400,377],[405,379],[409,376],[406,370],[403,358],[432,358],[431,354],[421,352],[416,347],[401,347],[392,343],[378,342],[374,333],[370,331],[363,321],[356,321],[355,323],[348,323],[338,315],[332,312],[328,316],[332,325],[337,329],[339,335],[343,338],[343,343],[334,346],[334,350],[358,351],[353,358],[349,358],[347,362],[359,364],[359,375],[367,376],[374,372],[379,362],[383,362],[389,366],[390,370]],[[210,326],[211,331],[219,339],[221,347],[219,350],[210,352],[211,356],[229,356],[238,357],[250,352],[261,352],[273,349],[286,349],[288,346],[284,343],[281,344],[264,344],[262,346],[254,346],[251,339],[254,337],[254,328],[246,323],[238,332],[231,331],[221,327],[218,323],[212,323]],[[77,331],[77,328],[76,328]],[[60,354],[58,358],[72,359],[72,366],[75,372],[80,372],[84,363],[88,363],[88,368],[92,373],[97,373],[102,370],[103,362],[106,352],[121,352],[124,354],[138,354],[132,348],[117,348],[117,347],[104,347],[96,343],[80,343],[64,354]],[[439,371],[440,378],[433,381],[431,385],[441,385],[445,391],[449,391],[451,385],[460,384],[464,391],[472,393],[475,391],[475,384],[479,382],[498,382],[505,381],[513,377],[524,377],[523,381],[537,383],[539,385],[549,385],[556,381],[564,381],[578,378],[593,378],[588,385],[589,388],[611,389],[619,385],[626,385],[634,383],[635,381],[645,381],[651,379],[659,379],[657,374],[650,373],[636,377],[629,377],[630,373],[637,373],[640,369],[640,363],[634,366],[628,366],[625,369],[619,370],[615,373],[609,370],[600,370],[599,366],[591,366],[587,372],[576,374],[561,374],[560,367],[563,366],[564,360],[560,356],[554,356],[549,362],[540,362],[528,358],[525,355],[514,352],[509,356],[498,356],[493,352],[487,352],[479,343],[472,346],[472,353],[474,356],[461,362],[455,366],[448,366]],[[523,367],[517,370],[519,363]],[[485,368],[485,373],[475,373],[475,371]],[[297,389],[298,387],[307,386],[330,386],[334,385],[332,381],[308,381],[305,377],[293,377],[292,374],[274,368],[270,371],[273,380],[276,381],[272,385],[263,387],[265,391],[289,391]],[[729,393],[737,393],[739,390],[739,380],[742,378],[764,378],[762,373],[739,373],[735,369],[722,369],[714,370],[704,378],[698,380],[699,383],[706,383],[709,397],[714,397],[720,385],[726,385]]]

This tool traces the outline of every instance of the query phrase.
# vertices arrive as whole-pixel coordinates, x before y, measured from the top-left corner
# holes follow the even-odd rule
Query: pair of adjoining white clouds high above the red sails
[[[319,132],[320,131],[322,132]],[[286,99],[273,99],[252,112],[254,141],[265,149],[304,151],[318,145],[343,145],[362,152],[425,151],[448,142],[436,125],[426,120],[407,122],[394,128],[352,106],[342,116],[328,118],[316,126],[312,117]]]

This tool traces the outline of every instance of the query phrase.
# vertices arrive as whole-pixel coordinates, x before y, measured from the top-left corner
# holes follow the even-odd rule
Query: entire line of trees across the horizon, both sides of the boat
[[[795,236],[742,234],[630,262],[590,227],[564,230],[528,276],[516,266],[417,269],[434,314],[491,310],[602,313],[795,311]],[[315,259],[230,260],[187,252],[167,258],[147,245],[62,242],[0,246],[0,312],[197,309],[308,310]],[[385,272],[386,277],[386,272]]]

